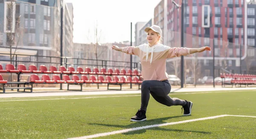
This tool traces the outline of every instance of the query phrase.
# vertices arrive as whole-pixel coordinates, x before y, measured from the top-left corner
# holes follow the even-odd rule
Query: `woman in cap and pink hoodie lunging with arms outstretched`
[[[125,52],[130,55],[137,55],[140,57],[142,67],[142,77],[144,81],[141,84],[141,106],[136,115],[131,118],[131,121],[145,121],[146,110],[148,106],[149,96],[151,96],[159,103],[166,106],[181,105],[184,110],[183,115],[191,115],[193,103],[191,101],[182,100],[179,98],[171,98],[168,94],[171,91],[171,85],[168,81],[168,74],[166,73],[166,59],[179,57],[181,55],[189,55],[196,52],[210,51],[211,48],[201,47],[199,49],[190,49],[183,47],[169,47],[161,44],[162,30],[159,26],[153,25],[146,27],[145,32],[148,33],[148,44],[140,46],[127,46],[119,48],[112,46],[112,49],[120,52]]]

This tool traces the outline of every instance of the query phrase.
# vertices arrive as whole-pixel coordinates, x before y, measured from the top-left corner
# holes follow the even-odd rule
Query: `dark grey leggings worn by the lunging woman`
[[[179,98],[171,98],[168,94],[171,91],[171,84],[168,80],[157,81],[157,80],[146,80],[141,84],[141,106],[140,110],[147,110],[149,93],[153,98],[166,106],[173,105],[185,105],[186,101]]]

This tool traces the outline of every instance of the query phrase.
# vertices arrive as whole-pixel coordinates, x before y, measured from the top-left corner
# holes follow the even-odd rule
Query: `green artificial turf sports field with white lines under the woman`
[[[151,97],[148,120],[130,122],[140,94],[0,98],[0,138],[256,138],[256,90],[170,96],[192,101],[192,116]]]

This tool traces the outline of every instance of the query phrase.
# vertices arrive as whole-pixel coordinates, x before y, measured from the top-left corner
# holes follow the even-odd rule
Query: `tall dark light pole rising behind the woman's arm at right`
[[[181,28],[180,28],[180,47],[183,47],[184,45],[184,4],[183,4],[183,0],[181,0],[181,6],[179,4],[177,4],[174,0],[172,0],[172,3],[175,4],[175,6],[177,6],[178,8],[181,9]],[[181,59],[180,59],[180,88],[183,88],[183,82],[184,82],[184,56],[181,55]]]

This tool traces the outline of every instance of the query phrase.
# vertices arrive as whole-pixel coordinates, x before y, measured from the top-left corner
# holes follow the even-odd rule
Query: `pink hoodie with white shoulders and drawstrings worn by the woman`
[[[145,80],[163,81],[168,79],[166,73],[166,59],[189,55],[189,49],[184,47],[169,47],[157,43],[150,47],[148,44],[140,46],[127,46],[122,48],[122,52],[140,57],[142,71]],[[149,59],[148,59],[149,58]]]

